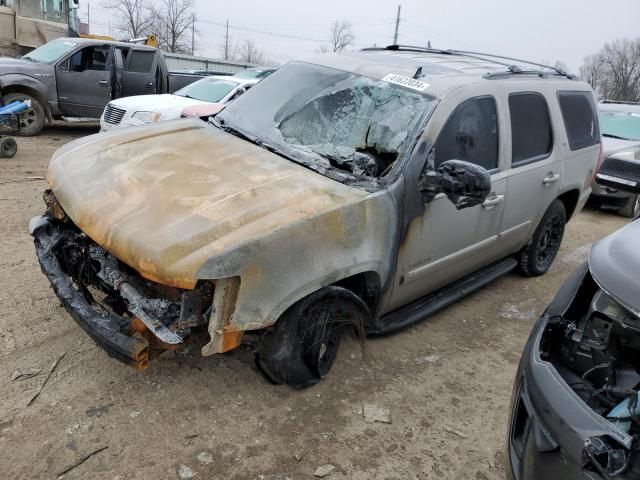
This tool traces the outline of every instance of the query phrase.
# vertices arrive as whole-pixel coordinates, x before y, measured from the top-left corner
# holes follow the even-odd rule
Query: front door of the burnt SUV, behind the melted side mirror
[[[497,259],[495,244],[506,187],[501,171],[503,120],[499,103],[492,95],[450,97],[450,105],[444,101],[440,104],[425,132],[427,138],[437,138],[430,154],[434,166],[453,159],[481,165],[491,173],[492,190],[484,204],[463,210],[456,210],[444,194],[439,194],[412,221],[398,253],[387,311]],[[433,131],[443,124],[440,132]],[[406,188],[407,195],[419,194],[415,185]]]

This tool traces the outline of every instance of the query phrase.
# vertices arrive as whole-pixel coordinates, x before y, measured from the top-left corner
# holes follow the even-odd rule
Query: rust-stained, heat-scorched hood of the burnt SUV
[[[96,243],[180,288],[212,256],[367,195],[196,119],[71,142],[47,180]]]

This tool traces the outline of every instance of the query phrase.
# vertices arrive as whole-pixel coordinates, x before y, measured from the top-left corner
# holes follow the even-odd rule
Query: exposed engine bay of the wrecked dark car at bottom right
[[[589,273],[565,314],[549,319],[540,354],[593,411],[640,439],[640,317]],[[628,472],[636,463],[633,450],[621,447],[607,437],[589,438],[585,463],[605,478]]]

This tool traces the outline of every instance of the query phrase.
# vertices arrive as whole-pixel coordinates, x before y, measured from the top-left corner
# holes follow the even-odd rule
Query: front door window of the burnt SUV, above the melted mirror
[[[461,103],[451,114],[435,144],[435,166],[465,160],[487,170],[498,168],[498,115],[492,97]]]

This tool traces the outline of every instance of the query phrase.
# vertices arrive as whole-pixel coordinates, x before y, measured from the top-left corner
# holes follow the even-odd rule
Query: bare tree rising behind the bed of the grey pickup
[[[154,29],[161,48],[172,53],[191,53],[194,3],[194,0],[160,0],[155,6]]]

